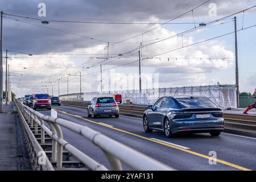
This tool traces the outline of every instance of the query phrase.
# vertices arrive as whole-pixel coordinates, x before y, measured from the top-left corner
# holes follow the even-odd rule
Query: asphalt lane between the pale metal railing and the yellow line
[[[47,111],[40,112],[42,114],[47,114]],[[168,166],[174,167],[178,170],[236,170],[236,168],[226,166],[221,163],[217,163],[216,165],[210,165],[207,159],[200,158],[196,155],[191,155],[183,151],[175,150],[174,148],[166,147],[158,143],[134,137],[132,135],[122,133],[120,131],[106,128],[105,126],[86,122],[80,118],[73,117],[72,115],[58,113],[58,117],[67,119],[68,121],[72,121],[80,125],[88,126],[93,130],[99,131],[100,133],[105,134],[110,138],[118,140],[118,142],[121,142],[131,148],[134,148],[135,150],[140,151],[148,156],[151,156],[152,158],[158,160],[159,162],[167,164]],[[72,143],[81,151],[88,154],[88,146],[84,146],[85,139],[80,139],[80,137],[77,138],[77,135],[67,134],[70,132],[71,131],[69,130],[63,130],[64,139]],[[98,161],[100,163],[105,164],[104,161],[101,162],[102,156],[104,156],[102,153],[94,151],[89,156],[92,156],[94,159],[99,158]]]

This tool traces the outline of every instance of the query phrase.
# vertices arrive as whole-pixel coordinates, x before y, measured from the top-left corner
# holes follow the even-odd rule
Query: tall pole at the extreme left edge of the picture
[[[3,112],[3,11],[1,11],[0,24],[0,112]]]

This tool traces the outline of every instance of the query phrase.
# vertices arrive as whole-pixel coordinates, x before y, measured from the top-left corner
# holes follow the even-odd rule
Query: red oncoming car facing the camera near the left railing
[[[48,109],[51,110],[51,98],[48,94],[34,94],[34,100],[32,102],[32,107],[36,109]]]

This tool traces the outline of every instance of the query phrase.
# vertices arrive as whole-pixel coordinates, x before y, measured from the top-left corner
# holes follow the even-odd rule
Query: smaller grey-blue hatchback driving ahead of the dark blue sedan
[[[94,97],[87,107],[88,117],[96,118],[98,115],[114,115],[119,117],[119,108],[113,97]]]

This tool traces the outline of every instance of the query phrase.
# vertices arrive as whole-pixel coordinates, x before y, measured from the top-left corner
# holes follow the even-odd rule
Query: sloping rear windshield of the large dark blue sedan
[[[217,107],[207,97],[180,97],[176,98],[182,107]]]

